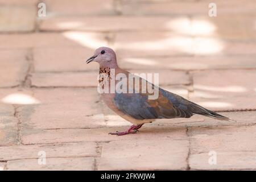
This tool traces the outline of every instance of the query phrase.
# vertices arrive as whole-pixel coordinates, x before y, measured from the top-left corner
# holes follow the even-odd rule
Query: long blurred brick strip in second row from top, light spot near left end
[[[183,16],[179,17],[184,18]],[[90,16],[53,17],[43,19],[42,31],[171,31],[168,23],[176,18],[167,16]],[[154,22],[154,23],[152,23]],[[158,26],[155,26],[158,24]]]

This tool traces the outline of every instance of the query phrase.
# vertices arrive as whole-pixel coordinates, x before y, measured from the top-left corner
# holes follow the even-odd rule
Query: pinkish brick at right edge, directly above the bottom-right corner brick
[[[220,126],[191,128],[191,154],[203,152],[256,151],[256,126]]]

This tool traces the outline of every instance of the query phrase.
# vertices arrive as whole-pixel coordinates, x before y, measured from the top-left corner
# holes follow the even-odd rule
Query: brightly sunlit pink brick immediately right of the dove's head
[[[117,57],[193,55],[192,36],[173,32],[119,32],[113,47]]]

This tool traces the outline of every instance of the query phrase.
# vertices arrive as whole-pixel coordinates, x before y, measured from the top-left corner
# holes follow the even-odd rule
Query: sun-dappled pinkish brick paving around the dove
[[[0,0],[0,169],[256,169],[256,2]],[[100,101],[94,48],[237,120],[129,123]],[[46,156],[46,160],[44,160]],[[46,163],[44,163],[46,162]]]

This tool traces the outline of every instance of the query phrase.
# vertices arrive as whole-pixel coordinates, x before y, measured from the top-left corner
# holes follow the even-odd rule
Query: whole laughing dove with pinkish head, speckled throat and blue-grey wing
[[[144,123],[150,123],[155,119],[190,118],[194,114],[225,121],[232,120],[151,84],[141,77],[133,75],[134,77],[130,78],[131,73],[118,67],[115,52],[111,48],[97,48],[94,55],[86,63],[92,61],[100,64],[99,75],[104,75],[98,77],[98,88],[100,87],[100,91],[99,89],[98,91],[101,93],[102,100],[115,113],[133,123],[127,131],[117,131],[110,134],[134,134]],[[117,79],[120,75],[122,79]],[[135,85],[135,78],[139,78],[138,87]],[[122,86],[120,86],[121,80]],[[146,92],[142,92],[145,91],[143,82],[146,82],[149,88],[158,93],[158,97],[150,98],[154,92],[148,92],[148,89],[146,89]]]

